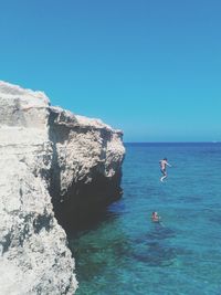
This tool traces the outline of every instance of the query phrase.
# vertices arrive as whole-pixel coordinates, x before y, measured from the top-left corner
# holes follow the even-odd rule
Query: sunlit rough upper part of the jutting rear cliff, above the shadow
[[[122,131],[99,119],[76,116],[57,107],[51,107],[51,112],[56,115],[53,120],[56,138],[51,140],[57,154],[60,196],[65,196],[73,183],[92,182],[96,172],[107,179],[114,177],[125,154]]]

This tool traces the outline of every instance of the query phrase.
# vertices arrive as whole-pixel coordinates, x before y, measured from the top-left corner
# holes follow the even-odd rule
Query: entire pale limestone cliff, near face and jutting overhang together
[[[0,82],[0,294],[73,294],[75,226],[120,194],[122,133]],[[82,211],[81,211],[82,210]]]

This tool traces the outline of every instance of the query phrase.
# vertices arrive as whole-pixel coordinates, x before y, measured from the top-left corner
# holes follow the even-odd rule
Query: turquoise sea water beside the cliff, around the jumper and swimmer
[[[221,144],[128,144],[123,198],[70,236],[77,295],[221,294]],[[173,165],[159,181],[159,159]],[[152,211],[161,224],[150,221]]]

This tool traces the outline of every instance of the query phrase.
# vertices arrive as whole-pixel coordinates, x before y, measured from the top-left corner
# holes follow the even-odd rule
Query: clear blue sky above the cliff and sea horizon
[[[0,80],[125,141],[221,140],[220,0],[2,0]]]

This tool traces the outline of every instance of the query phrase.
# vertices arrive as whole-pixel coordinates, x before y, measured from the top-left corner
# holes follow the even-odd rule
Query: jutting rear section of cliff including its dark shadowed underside
[[[61,223],[75,228],[120,197],[122,131],[61,108],[50,112],[51,194]]]

